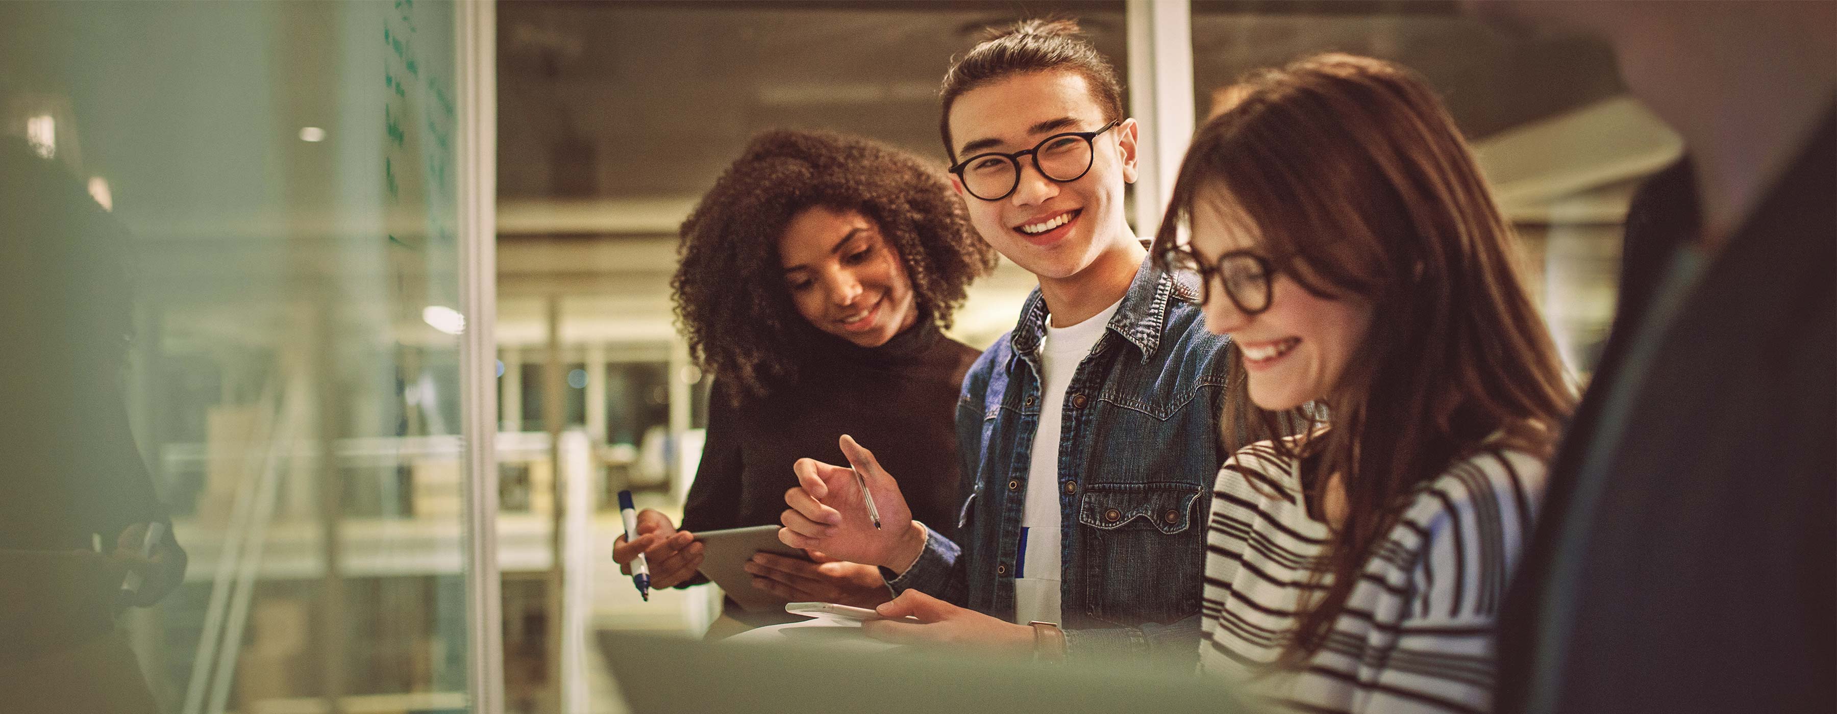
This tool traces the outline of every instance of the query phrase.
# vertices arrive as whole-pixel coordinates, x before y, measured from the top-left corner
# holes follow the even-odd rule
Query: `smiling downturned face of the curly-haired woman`
[[[803,209],[779,237],[779,261],[797,314],[823,332],[880,347],[918,319],[906,264],[856,211]]]

